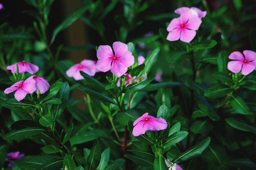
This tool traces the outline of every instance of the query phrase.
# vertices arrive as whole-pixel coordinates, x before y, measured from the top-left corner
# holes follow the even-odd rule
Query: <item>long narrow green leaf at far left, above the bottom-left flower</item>
[[[41,128],[25,128],[16,130],[13,132],[9,132],[4,135],[5,140],[17,140],[17,139],[26,139],[28,137],[32,137],[38,135],[39,133],[43,132],[44,130]]]

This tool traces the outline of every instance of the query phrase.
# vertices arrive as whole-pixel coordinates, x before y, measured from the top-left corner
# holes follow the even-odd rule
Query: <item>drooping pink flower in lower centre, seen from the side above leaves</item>
[[[155,118],[145,113],[133,122],[133,126],[132,135],[139,136],[143,135],[146,130],[164,130],[167,128],[167,123],[162,117]]]

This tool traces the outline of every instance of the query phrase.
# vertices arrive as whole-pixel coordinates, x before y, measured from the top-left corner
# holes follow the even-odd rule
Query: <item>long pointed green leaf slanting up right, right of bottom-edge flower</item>
[[[202,154],[202,152],[209,146],[210,141],[211,141],[210,137],[205,138],[204,140],[198,142],[196,145],[192,146],[189,150],[177,156],[173,160],[173,162],[182,163],[189,159],[194,159],[196,157],[199,157]]]

